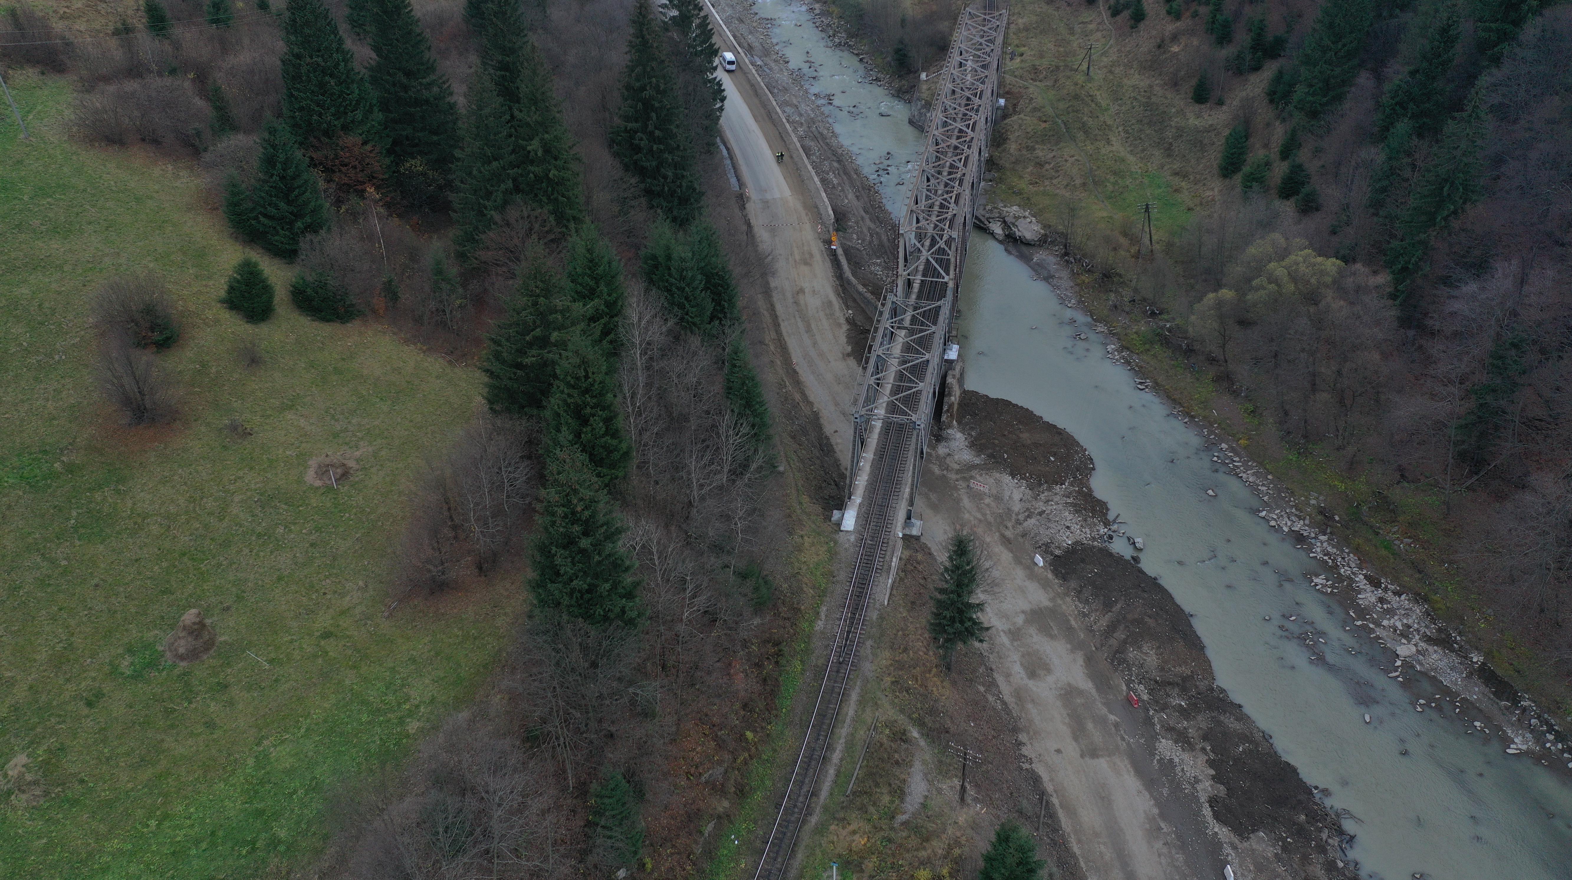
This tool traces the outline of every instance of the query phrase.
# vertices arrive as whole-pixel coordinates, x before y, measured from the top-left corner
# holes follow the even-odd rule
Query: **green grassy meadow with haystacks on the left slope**
[[[286,297],[242,324],[217,305],[242,248],[195,167],[75,145],[69,86],[13,77],[33,141],[0,123],[0,764],[27,753],[47,797],[0,795],[0,877],[280,874],[335,789],[475,693],[514,621],[509,589],[382,614],[409,486],[478,377]],[[124,270],[178,302],[173,426],[119,427],[94,391],[86,302]],[[363,470],[311,487],[325,453]],[[220,643],[168,666],[187,608]]]

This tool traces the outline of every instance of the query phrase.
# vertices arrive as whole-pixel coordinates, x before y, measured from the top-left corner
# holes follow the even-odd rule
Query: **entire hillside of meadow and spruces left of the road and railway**
[[[772,418],[755,371],[715,55],[696,0],[0,6],[33,123],[25,141],[8,119],[0,148],[30,178],[0,198],[8,220],[47,209],[0,292],[50,317],[8,354],[90,343],[68,377],[31,358],[6,388],[28,415],[8,429],[58,431],[8,431],[0,459],[27,514],[0,558],[52,591],[17,605],[27,641],[8,630],[0,657],[27,682],[0,704],[0,875],[690,877],[717,822],[748,820],[828,577],[835,481],[814,423]],[[179,200],[149,198],[145,167]],[[61,251],[102,247],[83,223],[110,266],[61,277]],[[324,426],[360,448],[300,459],[302,484],[280,456]],[[105,575],[108,607],[88,577],[31,574],[82,558],[52,528],[74,498],[71,523],[99,520],[107,500],[68,489],[112,467],[105,432],[195,465],[121,456],[93,482],[156,484],[176,519],[94,544],[190,561]],[[264,553],[275,526],[303,533],[303,563]],[[355,586],[321,599],[332,624],[288,618],[335,563]],[[206,652],[160,654],[146,630],[195,602]],[[90,658],[93,693],[72,640],[30,622],[72,603],[94,614],[82,651],[113,657]],[[264,629],[253,605],[288,619]],[[278,676],[272,698],[245,679],[253,709],[222,712],[248,674]]]

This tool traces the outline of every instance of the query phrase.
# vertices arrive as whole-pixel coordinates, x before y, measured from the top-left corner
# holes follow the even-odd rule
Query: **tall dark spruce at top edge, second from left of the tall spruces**
[[[423,167],[440,179],[453,173],[459,108],[453,86],[437,71],[431,41],[409,0],[362,0],[366,38],[377,60],[366,69],[382,115],[387,168]],[[418,165],[412,165],[418,163]]]

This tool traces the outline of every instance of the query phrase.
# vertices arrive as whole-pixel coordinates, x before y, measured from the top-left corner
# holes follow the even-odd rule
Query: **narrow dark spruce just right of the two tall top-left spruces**
[[[517,201],[512,124],[497,85],[484,64],[470,79],[468,108],[464,115],[464,145],[454,170],[453,248],[468,262],[481,239],[495,226],[497,215]]]

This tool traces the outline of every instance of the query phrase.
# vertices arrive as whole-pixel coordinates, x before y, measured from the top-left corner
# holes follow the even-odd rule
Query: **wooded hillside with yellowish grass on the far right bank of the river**
[[[937,69],[949,6],[835,8]],[[995,198],[1171,393],[1566,698],[1572,9],[1049,0],[1008,47]]]

